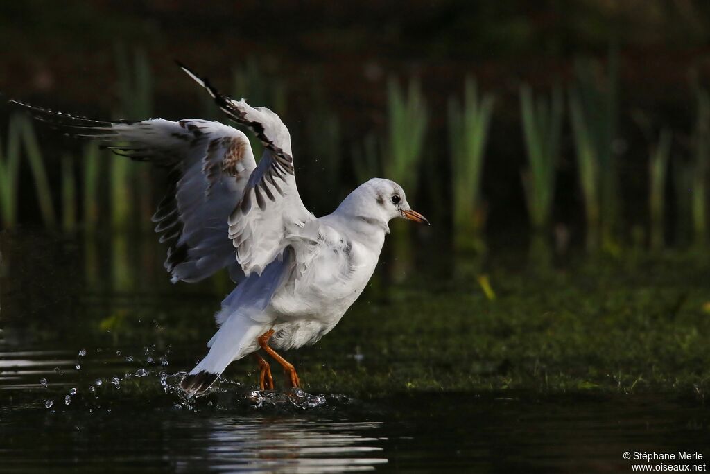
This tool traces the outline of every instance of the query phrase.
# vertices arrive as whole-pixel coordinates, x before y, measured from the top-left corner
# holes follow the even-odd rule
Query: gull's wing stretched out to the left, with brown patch
[[[227,224],[256,168],[244,133],[213,121],[95,121],[17,104],[70,135],[170,170],[170,187],[153,221],[160,241],[170,246],[165,268],[173,282],[197,282],[226,266],[233,280],[244,277]]]

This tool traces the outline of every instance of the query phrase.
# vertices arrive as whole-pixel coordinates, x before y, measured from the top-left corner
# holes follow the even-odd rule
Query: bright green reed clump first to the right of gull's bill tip
[[[464,84],[464,102],[449,99],[449,148],[452,158],[452,202],[454,205],[454,247],[457,250],[483,250],[481,238],[485,209],[481,175],[488,128],[495,99],[492,94],[479,97],[476,81]]]

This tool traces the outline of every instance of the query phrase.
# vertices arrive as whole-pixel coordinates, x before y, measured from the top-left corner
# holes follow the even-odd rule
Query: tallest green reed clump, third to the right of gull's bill
[[[606,75],[591,60],[578,60],[569,89],[577,172],[586,214],[586,247],[616,253],[618,170],[613,142],[618,120],[618,53],[611,48]]]

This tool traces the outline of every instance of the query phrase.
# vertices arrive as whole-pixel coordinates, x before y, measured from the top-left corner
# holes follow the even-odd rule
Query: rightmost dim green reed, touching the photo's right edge
[[[693,134],[691,216],[694,243],[707,245],[708,175],[710,173],[710,94],[700,87],[696,90],[697,111]]]

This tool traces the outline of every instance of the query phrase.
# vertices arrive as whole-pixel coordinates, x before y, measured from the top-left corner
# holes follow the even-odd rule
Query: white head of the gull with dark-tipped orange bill
[[[338,210],[343,214],[381,222],[385,226],[395,217],[430,225],[425,216],[409,205],[404,189],[384,178],[373,178],[361,184],[343,200]]]

